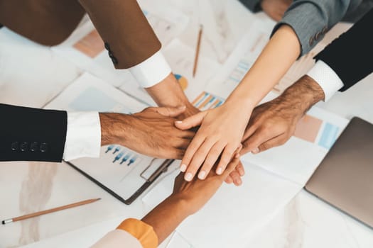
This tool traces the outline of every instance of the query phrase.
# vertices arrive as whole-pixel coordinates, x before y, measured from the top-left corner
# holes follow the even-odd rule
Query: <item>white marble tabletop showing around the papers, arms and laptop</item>
[[[231,37],[220,40],[216,47],[237,42],[239,32],[245,27],[247,11],[235,0],[210,0],[212,11],[219,16],[230,13],[237,18],[231,27]],[[198,18],[193,9],[195,1],[160,0]],[[203,4],[202,4],[203,5]],[[229,6],[229,7],[227,7]],[[211,10],[200,10],[199,13]],[[230,11],[230,12],[229,12]],[[232,15],[234,13],[234,15]],[[217,26],[227,28],[220,18]],[[187,29],[180,37],[193,45],[195,35]],[[209,47],[205,45],[205,47]],[[212,46],[214,47],[214,45]],[[224,57],[224,50],[201,51],[217,61]],[[0,31],[0,101],[22,106],[41,107],[76,79],[82,70],[74,64],[55,56],[48,47]],[[318,106],[346,118],[360,116],[373,123],[373,76],[344,94],[337,94],[328,103]],[[3,116],[2,118],[7,118]],[[27,123],[25,123],[27,125]],[[69,211],[62,211],[40,218],[33,218],[11,225],[0,226],[0,247],[87,247],[122,219],[141,218],[148,208],[141,200],[124,205],[92,184],[66,164],[36,162],[4,162],[0,164],[0,219],[53,208],[86,198],[101,201]],[[168,240],[162,244],[166,247]],[[306,191],[301,191],[273,220],[258,227],[248,235],[243,247],[373,247],[373,231],[318,201]]]

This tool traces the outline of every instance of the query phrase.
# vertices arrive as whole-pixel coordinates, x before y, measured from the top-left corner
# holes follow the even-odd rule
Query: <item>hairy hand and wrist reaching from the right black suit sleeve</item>
[[[256,154],[283,145],[308,109],[324,98],[320,85],[306,75],[281,96],[254,108],[244,133],[241,154]]]

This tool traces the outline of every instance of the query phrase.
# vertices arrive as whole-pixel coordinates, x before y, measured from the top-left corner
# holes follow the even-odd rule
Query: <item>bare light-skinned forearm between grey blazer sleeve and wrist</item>
[[[281,26],[227,102],[240,101],[241,106],[256,106],[286,74],[300,53],[296,33],[289,26]]]

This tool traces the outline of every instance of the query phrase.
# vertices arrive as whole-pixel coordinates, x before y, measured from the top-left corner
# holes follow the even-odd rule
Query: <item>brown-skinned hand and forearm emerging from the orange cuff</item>
[[[153,227],[159,244],[178,227],[180,222],[200,210],[214,196],[238,162],[239,154],[236,154],[221,175],[211,171],[204,181],[196,178],[190,182],[185,181],[183,173],[176,177],[171,196],[142,219]]]

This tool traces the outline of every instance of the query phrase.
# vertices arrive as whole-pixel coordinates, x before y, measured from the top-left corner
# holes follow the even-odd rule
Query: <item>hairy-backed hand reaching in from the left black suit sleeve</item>
[[[119,144],[151,157],[181,159],[195,133],[175,128],[180,108],[146,108],[140,113],[99,113],[102,145]]]

